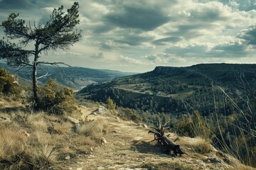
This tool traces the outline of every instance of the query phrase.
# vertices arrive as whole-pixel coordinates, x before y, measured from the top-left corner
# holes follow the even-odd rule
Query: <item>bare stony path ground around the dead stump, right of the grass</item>
[[[213,147],[208,153],[196,152],[193,146],[200,139],[195,138],[179,137],[176,141],[188,155],[174,157],[165,154],[164,149],[155,142],[149,143],[154,135],[148,134],[147,125],[93,111],[92,108],[82,108],[81,118],[107,120],[108,127],[102,145],[92,147],[90,154],[80,155],[75,161],[67,160],[67,169],[252,169]],[[175,140],[177,136],[171,134],[170,138]]]

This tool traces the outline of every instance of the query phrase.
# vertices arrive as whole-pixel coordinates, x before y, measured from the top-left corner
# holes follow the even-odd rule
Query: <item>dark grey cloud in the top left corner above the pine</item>
[[[29,0],[3,0],[0,1],[0,8],[3,9],[28,9],[35,7]]]

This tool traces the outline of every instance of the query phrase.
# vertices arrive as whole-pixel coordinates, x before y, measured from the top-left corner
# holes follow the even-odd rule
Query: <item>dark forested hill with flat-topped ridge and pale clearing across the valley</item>
[[[191,67],[156,67],[151,72],[87,86],[82,98],[149,113],[187,113],[198,110],[209,115],[233,113],[228,96],[241,107],[242,98],[252,97],[256,87],[256,64],[197,64]],[[221,90],[223,89],[226,94]],[[227,96],[228,95],[228,96]]]

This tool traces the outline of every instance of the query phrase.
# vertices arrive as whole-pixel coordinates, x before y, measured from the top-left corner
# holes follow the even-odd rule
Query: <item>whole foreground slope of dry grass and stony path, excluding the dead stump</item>
[[[1,111],[12,110],[0,112],[0,169],[252,169],[201,138],[179,137],[176,144],[188,155],[174,157],[149,143],[154,135],[146,125],[121,120],[102,106],[55,116],[0,101]]]

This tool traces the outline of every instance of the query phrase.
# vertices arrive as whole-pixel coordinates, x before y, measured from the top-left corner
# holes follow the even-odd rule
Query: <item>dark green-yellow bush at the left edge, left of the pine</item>
[[[18,84],[6,69],[0,67],[0,94],[18,94]]]

